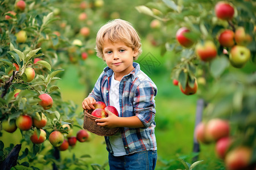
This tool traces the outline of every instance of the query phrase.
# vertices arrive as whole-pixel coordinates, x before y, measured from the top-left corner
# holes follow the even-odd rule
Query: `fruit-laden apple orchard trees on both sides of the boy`
[[[86,154],[60,160],[59,152],[72,150],[77,142],[90,142],[92,134],[82,128],[84,115],[76,114],[73,101],[62,99],[57,86],[65,69],[75,65],[85,73],[81,79],[89,86],[87,92],[91,90],[97,64],[88,58],[96,56],[97,29],[119,16],[117,12],[106,16],[104,8],[111,8],[106,2],[1,2],[0,169],[40,169],[39,164],[52,164],[53,169],[106,167],[86,163],[82,159],[90,156]],[[70,7],[74,15],[55,5]],[[167,74],[173,85],[184,98],[197,95],[204,101],[203,118],[195,125],[197,142],[214,145],[222,169],[255,169],[256,2],[163,0],[134,8],[151,21],[147,40],[162,55],[172,54]],[[80,130],[75,133],[74,127]],[[19,144],[6,146],[3,135],[17,130],[22,134]],[[27,147],[20,150],[21,146]],[[46,155],[44,161],[40,152]]]

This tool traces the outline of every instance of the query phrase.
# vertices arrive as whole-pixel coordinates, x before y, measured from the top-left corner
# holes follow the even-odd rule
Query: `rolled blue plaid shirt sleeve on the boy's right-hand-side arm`
[[[147,128],[155,119],[155,96],[157,88],[154,83],[146,81],[139,84],[135,91],[134,112]]]

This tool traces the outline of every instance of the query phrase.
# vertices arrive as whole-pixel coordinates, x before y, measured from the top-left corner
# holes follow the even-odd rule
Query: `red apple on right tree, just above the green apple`
[[[218,37],[218,42],[220,42],[220,45],[225,47],[234,46],[234,32],[230,29],[225,29]]]

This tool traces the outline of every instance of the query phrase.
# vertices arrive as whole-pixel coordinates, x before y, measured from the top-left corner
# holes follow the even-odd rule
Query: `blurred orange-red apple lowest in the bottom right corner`
[[[251,148],[246,146],[236,147],[226,154],[226,168],[229,170],[246,169],[250,164],[251,156]]]

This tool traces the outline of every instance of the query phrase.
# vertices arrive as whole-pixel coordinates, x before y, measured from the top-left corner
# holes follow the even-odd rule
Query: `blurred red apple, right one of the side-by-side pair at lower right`
[[[213,118],[209,120],[205,128],[205,138],[208,141],[217,141],[220,138],[228,137],[229,122],[220,118]]]

